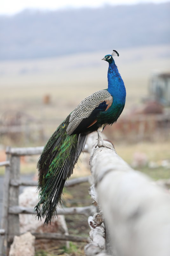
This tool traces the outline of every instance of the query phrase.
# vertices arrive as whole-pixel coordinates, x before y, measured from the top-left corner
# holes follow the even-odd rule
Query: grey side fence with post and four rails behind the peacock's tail
[[[3,186],[3,209],[0,229],[0,255],[8,255],[10,244],[15,235],[20,235],[19,214],[36,214],[34,208],[19,206],[19,186],[36,186],[35,181],[24,181],[20,179],[20,157],[41,154],[43,147],[35,148],[7,148],[6,161],[0,166],[5,166]],[[65,183],[65,187],[87,182],[89,177],[71,179]],[[58,209],[58,214],[81,214],[89,216],[96,212],[95,206],[65,207]],[[75,242],[87,242],[86,237],[61,235],[57,233],[32,233],[37,239],[56,239]],[[5,243],[4,243],[5,242]],[[4,246],[6,244],[6,246]]]

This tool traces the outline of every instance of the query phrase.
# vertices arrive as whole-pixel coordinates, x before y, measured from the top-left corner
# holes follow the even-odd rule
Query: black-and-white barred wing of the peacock
[[[112,105],[112,102],[113,97],[107,90],[99,90],[92,95],[86,97],[71,113],[69,125],[66,129],[67,134],[71,135],[78,127],[78,125],[82,122],[82,120],[91,117],[92,113],[95,112],[95,114],[97,114],[100,111],[106,111]],[[92,121],[90,120],[90,125],[95,123],[95,121],[97,120],[95,120],[94,118],[92,119]],[[87,127],[89,127],[90,125],[87,125]]]

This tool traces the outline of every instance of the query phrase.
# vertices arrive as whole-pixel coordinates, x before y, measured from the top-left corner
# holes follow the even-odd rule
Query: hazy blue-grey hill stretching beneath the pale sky
[[[167,44],[169,13],[170,2],[0,16],[0,59]]]

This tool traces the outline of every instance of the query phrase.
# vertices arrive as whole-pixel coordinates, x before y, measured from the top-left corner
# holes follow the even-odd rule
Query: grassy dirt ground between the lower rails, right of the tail
[[[85,182],[74,187],[66,188],[63,195],[64,206],[89,206],[92,204],[92,199],[88,193],[89,183]],[[87,217],[84,215],[66,215],[65,221],[70,235],[88,237],[89,225]],[[49,248],[47,251],[38,250],[36,256],[84,256],[84,246],[86,243],[70,242],[70,248],[62,246],[56,241],[56,246]]]

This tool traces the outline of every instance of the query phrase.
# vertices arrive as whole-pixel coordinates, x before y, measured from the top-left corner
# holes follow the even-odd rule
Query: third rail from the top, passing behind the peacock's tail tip
[[[58,208],[57,214],[63,214],[63,215],[72,215],[72,214],[78,214],[78,215],[85,215],[89,216],[91,214],[94,214],[96,211],[95,206],[84,206],[84,207],[64,207],[64,208]],[[9,208],[10,214],[37,214],[34,211],[33,207],[23,207],[23,206],[11,206]]]

